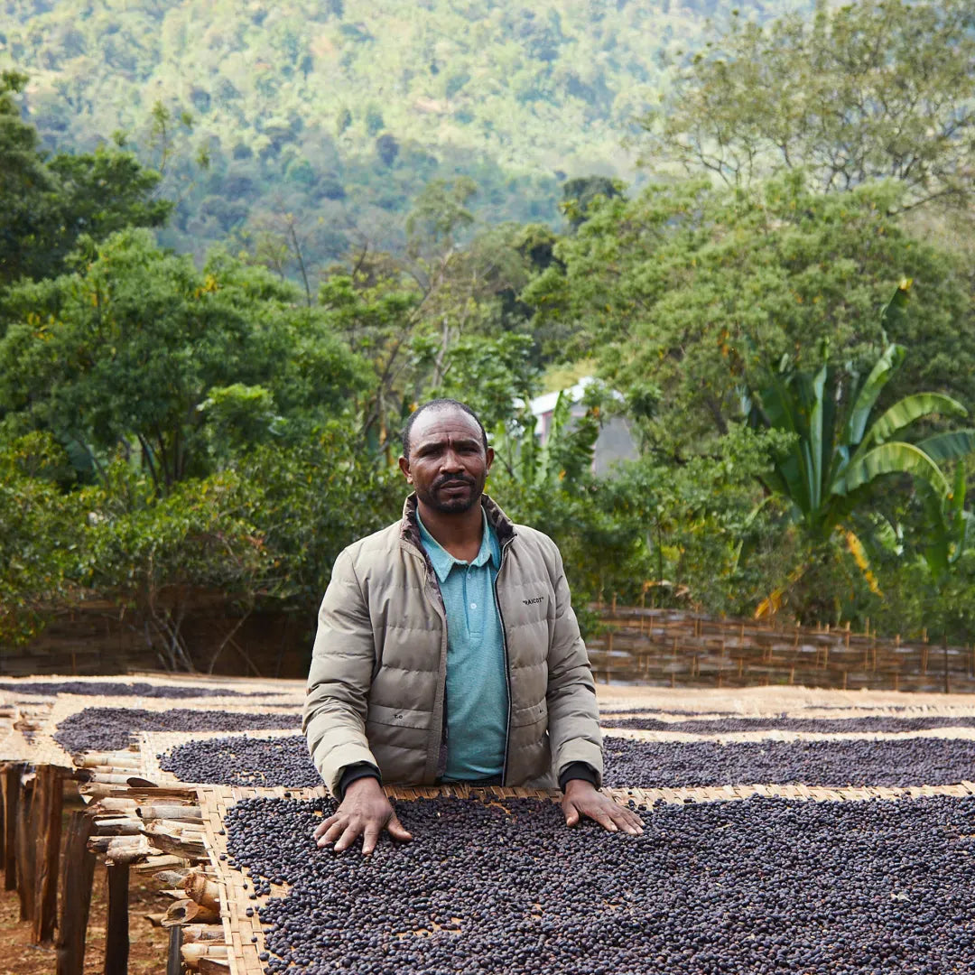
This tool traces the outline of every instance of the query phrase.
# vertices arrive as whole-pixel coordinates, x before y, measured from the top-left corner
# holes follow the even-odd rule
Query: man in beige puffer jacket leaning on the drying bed
[[[320,846],[410,839],[383,781],[558,782],[569,826],[642,832],[599,792],[596,692],[559,551],[484,494],[493,457],[470,408],[420,407],[403,434],[403,520],[335,560],[303,724],[340,803]]]

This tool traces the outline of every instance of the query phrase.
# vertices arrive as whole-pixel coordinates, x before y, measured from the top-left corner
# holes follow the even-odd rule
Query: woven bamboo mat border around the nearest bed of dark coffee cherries
[[[517,789],[500,786],[472,789],[465,786],[443,787],[386,787],[385,793],[392,800],[414,801],[452,797],[456,799],[478,800],[491,804],[503,803],[512,799],[539,799],[559,801],[562,794],[554,790]],[[748,785],[723,786],[721,788],[679,788],[679,789],[605,789],[604,793],[613,799],[626,803],[635,802],[647,810],[658,801],[668,803],[713,802],[721,800],[747,800],[753,796],[806,801],[863,801],[893,800],[904,797],[924,798],[931,796],[950,796],[964,798],[975,796],[975,782],[963,782],[953,786],[919,786],[911,788],[848,788],[826,789],[813,786]],[[257,911],[247,917],[248,908],[262,906],[267,897],[252,899],[254,884],[243,871],[227,866],[227,860],[220,855],[229,856],[224,832],[227,810],[237,802],[246,799],[284,799],[314,800],[328,795],[325,787],[317,789],[252,789],[230,786],[206,786],[198,788],[200,808],[203,813],[204,836],[210,853],[210,876],[220,891],[220,920],[223,924],[227,956],[231,975],[262,975],[263,962],[259,954],[264,951],[264,934]],[[245,889],[244,884],[248,886]],[[288,893],[287,885],[272,885],[272,897],[283,897]],[[252,940],[254,939],[254,940]]]

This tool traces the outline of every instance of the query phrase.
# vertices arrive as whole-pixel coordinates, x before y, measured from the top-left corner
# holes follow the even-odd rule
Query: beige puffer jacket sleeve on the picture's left
[[[343,768],[361,761],[378,766],[366,738],[373,646],[369,607],[346,549],[335,560],[318,612],[302,721],[312,761],[332,796],[340,793]]]

